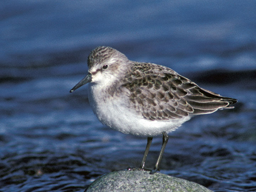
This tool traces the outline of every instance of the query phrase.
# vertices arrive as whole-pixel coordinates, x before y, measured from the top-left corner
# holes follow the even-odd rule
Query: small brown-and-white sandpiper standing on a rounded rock
[[[192,116],[231,106],[237,100],[199,87],[174,70],[152,63],[130,61],[111,47],[99,46],[88,57],[88,74],[74,88],[89,83],[89,102],[98,119],[117,131],[148,137],[140,170],[153,136],[163,135],[155,167],[174,131]]]

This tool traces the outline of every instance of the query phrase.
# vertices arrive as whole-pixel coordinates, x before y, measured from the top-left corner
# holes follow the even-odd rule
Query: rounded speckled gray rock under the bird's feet
[[[194,182],[161,174],[151,175],[149,171],[121,170],[102,175],[87,188],[91,191],[172,191],[210,192]]]

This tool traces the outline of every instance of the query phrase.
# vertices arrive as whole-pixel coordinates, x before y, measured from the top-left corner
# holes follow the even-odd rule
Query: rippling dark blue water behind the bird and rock
[[[213,191],[256,191],[256,1],[0,2],[0,191],[84,191],[139,166],[146,138],[101,125],[87,87],[99,45],[239,100],[170,133],[160,169]],[[153,167],[162,138],[153,139]]]

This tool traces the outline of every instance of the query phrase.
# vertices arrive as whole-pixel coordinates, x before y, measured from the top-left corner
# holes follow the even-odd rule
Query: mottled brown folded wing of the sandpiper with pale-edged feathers
[[[130,90],[130,102],[150,120],[181,119],[190,114],[213,113],[230,108],[236,99],[202,89],[175,71],[155,64],[143,63],[133,69],[124,87]],[[140,69],[143,68],[143,71]],[[145,70],[145,68],[147,70]]]

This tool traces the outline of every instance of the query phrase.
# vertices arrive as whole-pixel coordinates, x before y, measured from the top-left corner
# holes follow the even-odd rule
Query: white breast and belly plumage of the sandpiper
[[[100,91],[99,91],[100,90]],[[163,131],[174,131],[181,124],[190,119],[178,120],[148,120],[142,114],[129,108],[129,99],[124,97],[104,97],[101,89],[96,85],[89,85],[89,102],[94,114],[104,125],[107,125],[117,131],[137,136],[156,136]]]

